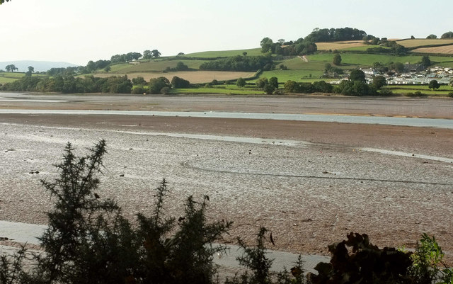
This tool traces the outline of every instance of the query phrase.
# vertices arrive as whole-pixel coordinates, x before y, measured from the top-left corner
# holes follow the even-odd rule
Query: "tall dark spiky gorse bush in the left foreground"
[[[103,140],[86,157],[76,157],[67,144],[59,178],[42,181],[55,198],[40,237],[45,252],[33,257],[37,266],[31,271],[23,269],[23,251],[12,261],[1,258],[1,283],[213,283],[213,254],[225,247],[213,248],[212,242],[231,222],[207,222],[207,196],[200,203],[190,196],[178,221],[167,217],[164,180],[153,214],[137,215],[133,227],[115,200],[96,193],[104,154]]]

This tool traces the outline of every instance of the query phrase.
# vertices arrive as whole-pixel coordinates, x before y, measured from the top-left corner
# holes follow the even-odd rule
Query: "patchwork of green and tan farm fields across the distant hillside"
[[[280,56],[273,55],[273,63],[275,64],[274,69],[261,72],[258,76],[253,76],[254,72],[258,70],[239,72],[239,71],[210,71],[200,70],[200,66],[206,62],[212,62],[222,58],[225,60],[227,57],[241,56],[243,58],[252,58],[256,56],[262,56],[261,48],[253,48],[246,50],[221,50],[221,51],[205,51],[195,52],[188,55],[180,55],[176,57],[158,57],[154,59],[139,59],[137,61],[129,63],[111,64],[110,70],[106,71],[104,68],[98,69],[93,72],[94,76],[107,77],[107,76],[123,76],[127,75],[129,79],[142,76],[144,79],[149,81],[151,78],[159,76],[166,76],[171,81],[173,76],[180,76],[183,79],[189,80],[191,83],[206,84],[210,83],[213,79],[218,81],[228,81],[233,83],[239,77],[243,77],[248,81],[248,84],[253,84],[259,78],[270,78],[277,77],[280,84],[285,83],[288,80],[297,82],[313,82],[319,80],[333,80],[323,78],[323,74],[326,69],[326,64],[333,65],[333,57],[336,53],[331,50],[342,47],[339,50],[341,56],[341,64],[333,66],[338,72],[347,74],[349,70],[363,67],[372,67],[375,62],[379,62],[383,65],[388,65],[396,62],[403,64],[411,63],[415,64],[421,62],[423,55],[429,55],[432,66],[440,67],[453,67],[453,56],[449,54],[449,50],[453,49],[452,40],[398,40],[398,43],[408,47],[406,55],[398,56],[391,54],[374,54],[366,53],[368,48],[382,47],[379,45],[365,45],[360,41],[346,41],[346,42],[319,42],[319,50],[314,52],[312,55],[306,55],[305,57],[299,56]],[[420,52],[419,47],[435,48],[435,53],[423,53]],[[389,49],[389,47],[382,47]],[[445,55],[439,52],[445,51]],[[423,50],[421,50],[423,51]],[[183,63],[187,69],[177,69],[178,63]],[[341,70],[340,70],[341,69]],[[0,73],[0,84],[6,84],[8,82],[15,81],[24,76],[24,73],[19,72],[2,72]],[[35,76],[35,74],[33,74]],[[81,77],[86,74],[79,75]],[[213,90],[213,88],[200,90],[203,92],[220,92],[229,93],[231,86],[228,86],[227,90],[219,89]],[[234,88],[233,88],[234,89]],[[244,90],[235,90],[236,93],[243,93]],[[181,92],[190,92],[183,91]],[[246,92],[246,91],[245,91]]]

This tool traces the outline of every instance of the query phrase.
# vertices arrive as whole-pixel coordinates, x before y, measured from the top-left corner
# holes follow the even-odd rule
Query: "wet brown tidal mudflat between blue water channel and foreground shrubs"
[[[135,98],[140,97],[132,96],[131,103]],[[161,98],[159,107],[183,108],[176,107],[178,99]],[[198,108],[208,108],[206,101],[222,105],[215,99],[192,98]],[[320,107],[326,102],[318,101]],[[387,104],[407,115],[418,112],[412,102]],[[369,111],[380,113],[373,106],[382,103],[369,101]],[[262,109],[270,104],[280,109],[273,99],[264,100]],[[337,106],[331,105],[331,113]],[[265,226],[275,249],[327,254],[327,245],[348,232],[367,233],[379,246],[407,247],[428,232],[452,258],[453,130],[120,115],[1,114],[0,122],[1,220],[45,224],[52,199],[40,179],[57,176],[52,164],[61,160],[67,142],[82,154],[103,138],[108,154],[98,194],[117,199],[131,219],[151,212],[153,188],[166,178],[171,188],[166,212],[178,217],[188,195],[209,195],[210,219],[234,221],[225,242],[236,237],[252,242]]]

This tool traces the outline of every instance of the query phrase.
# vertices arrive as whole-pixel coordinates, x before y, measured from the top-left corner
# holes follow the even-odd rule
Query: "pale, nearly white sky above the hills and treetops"
[[[259,47],[314,28],[379,38],[440,38],[452,0],[12,0],[0,6],[0,62],[89,60],[157,49],[162,55]]]

